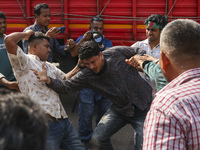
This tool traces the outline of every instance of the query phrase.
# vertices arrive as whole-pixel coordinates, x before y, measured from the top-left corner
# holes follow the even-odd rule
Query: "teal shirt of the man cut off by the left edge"
[[[8,58],[6,46],[4,44],[4,38],[5,35],[3,38],[0,38],[0,73],[3,74],[8,81],[11,81],[15,78],[15,76]],[[0,86],[2,86],[2,84],[0,84]]]

